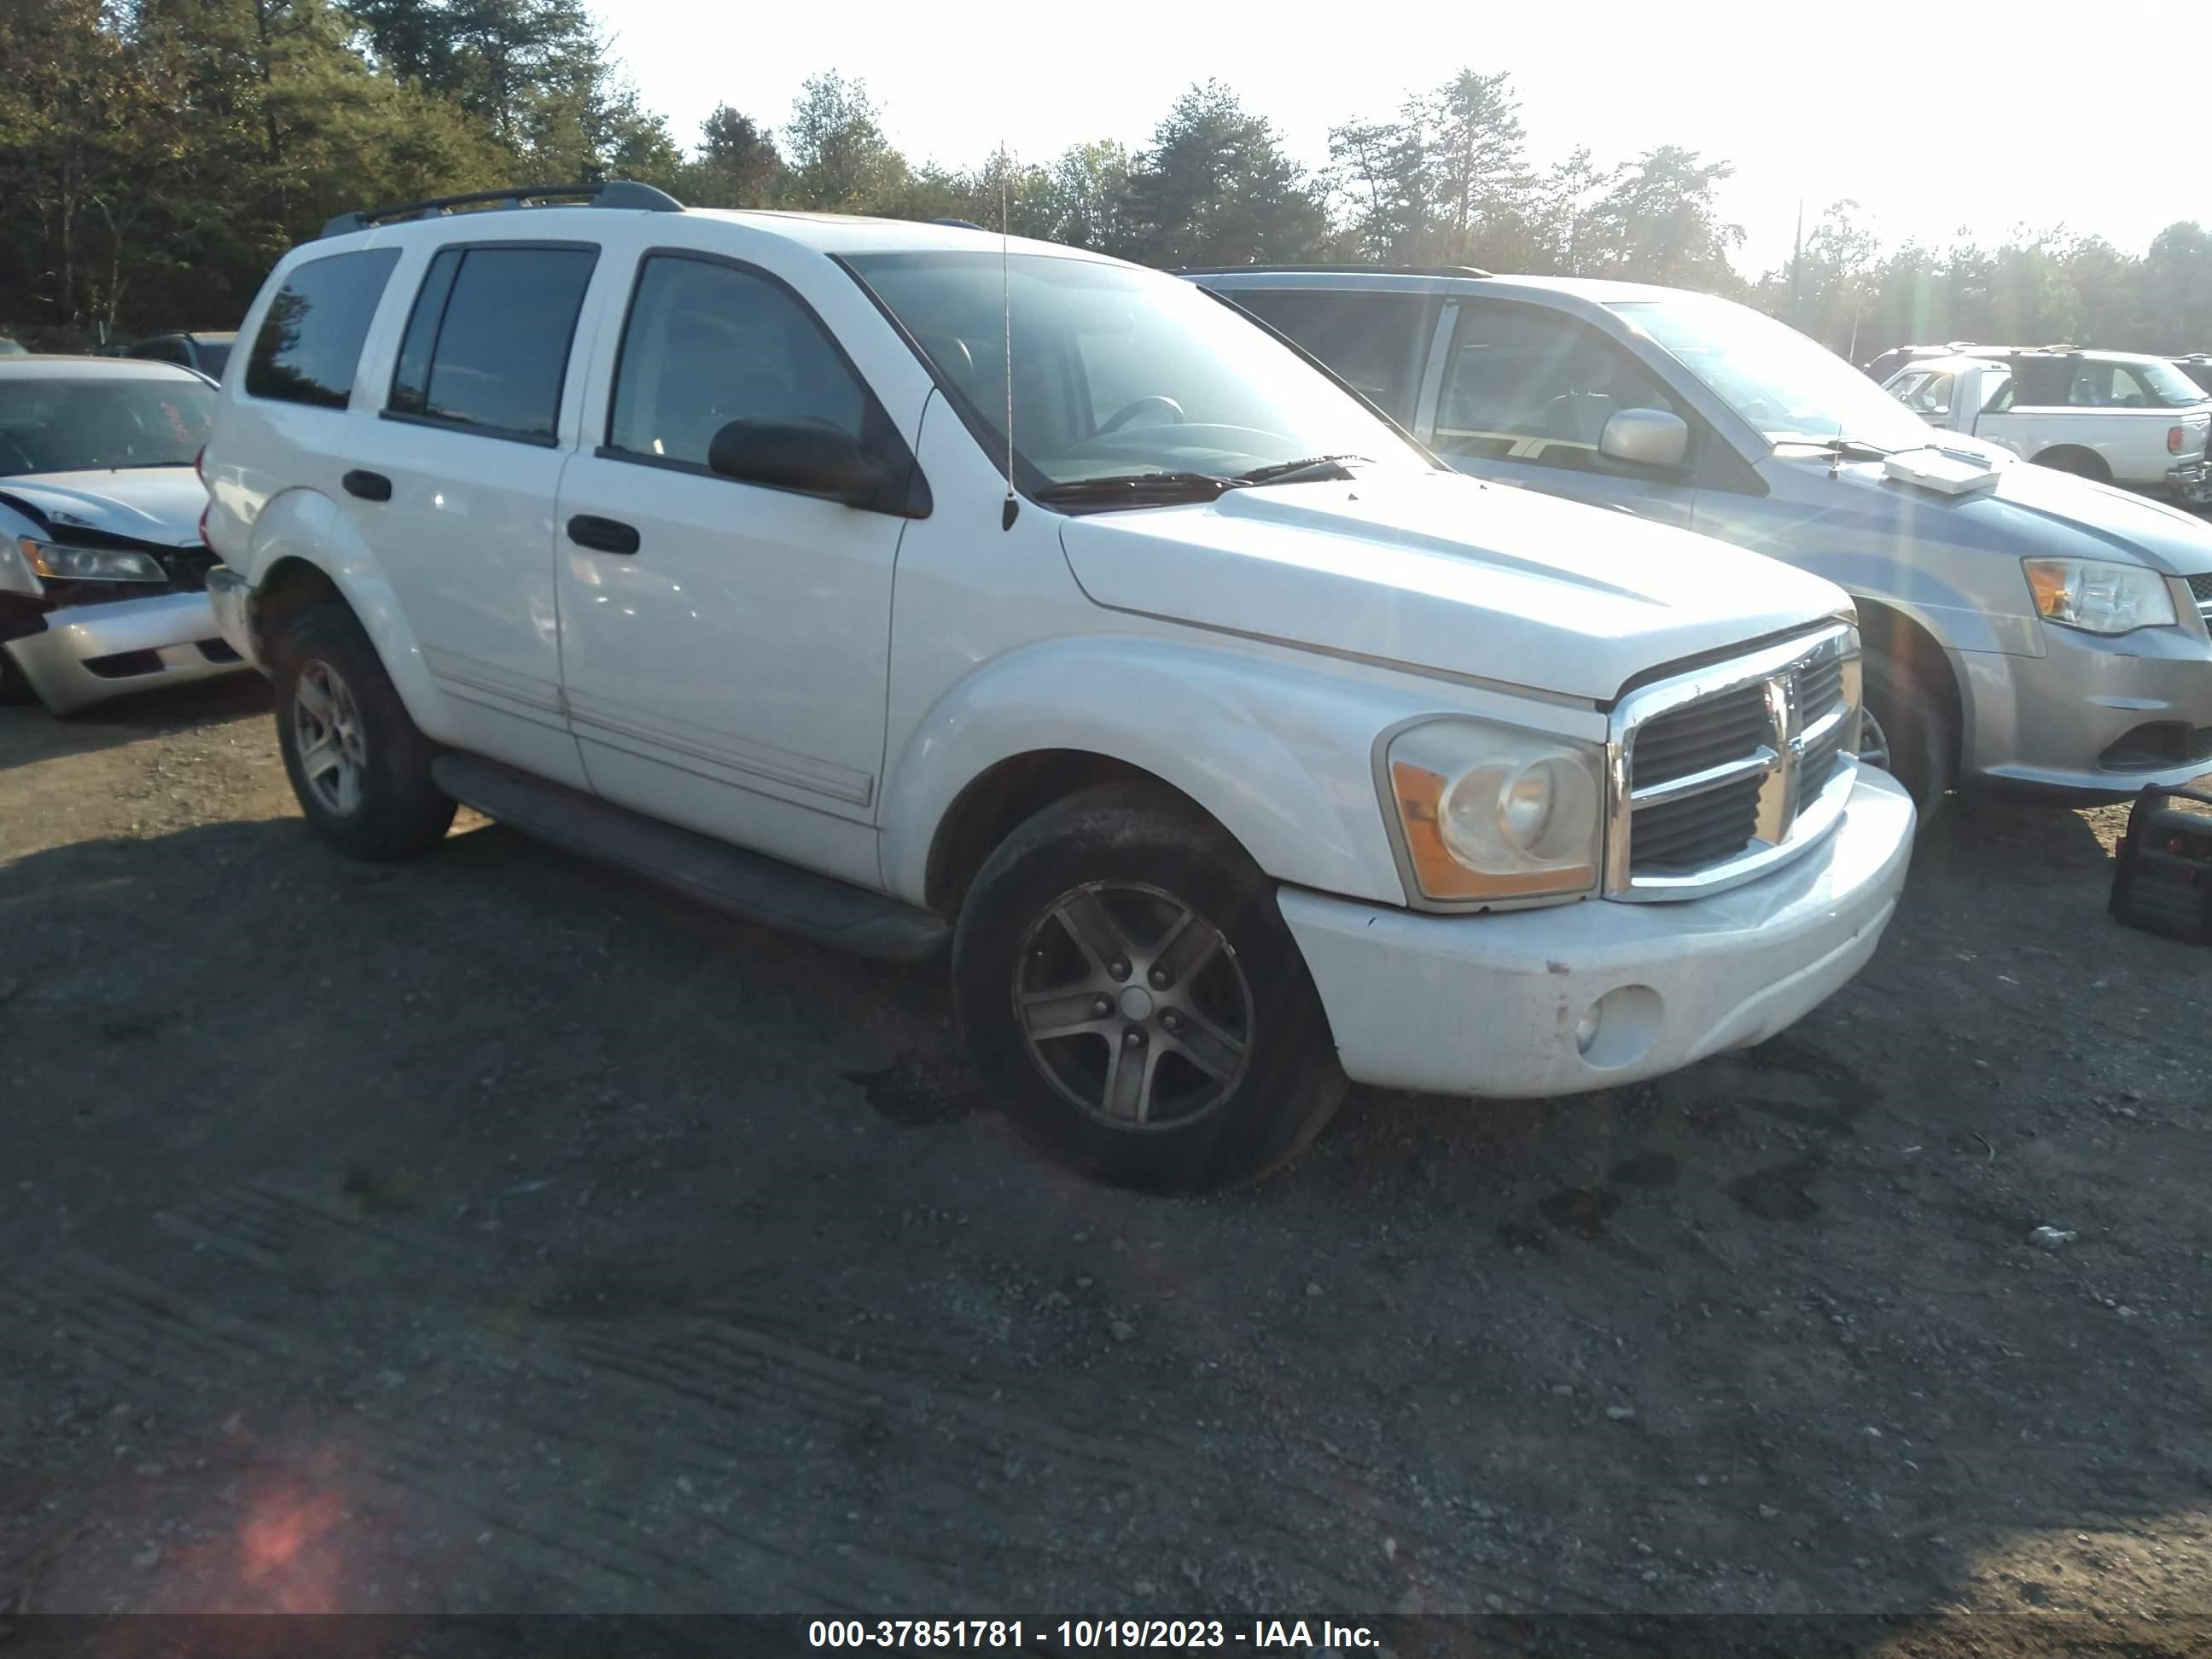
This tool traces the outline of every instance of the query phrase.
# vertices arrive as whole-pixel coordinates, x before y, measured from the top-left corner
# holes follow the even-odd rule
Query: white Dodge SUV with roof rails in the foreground
[[[1827,582],[1444,471],[1172,276],[568,195],[336,221],[246,319],[210,593],[338,849],[467,801],[949,947],[1009,1106],[1139,1186],[1347,1077],[1683,1066],[1874,951],[1913,810]]]

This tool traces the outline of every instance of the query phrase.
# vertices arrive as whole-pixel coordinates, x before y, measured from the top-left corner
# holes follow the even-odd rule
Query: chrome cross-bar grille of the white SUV
[[[1794,858],[1858,770],[1847,626],[1641,686],[1613,714],[1606,889],[1690,898]]]

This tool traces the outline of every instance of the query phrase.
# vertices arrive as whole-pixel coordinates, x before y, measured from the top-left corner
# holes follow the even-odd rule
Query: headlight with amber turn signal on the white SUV
[[[1422,898],[1564,898],[1597,889],[1604,757],[1473,719],[1409,726],[1385,752]]]

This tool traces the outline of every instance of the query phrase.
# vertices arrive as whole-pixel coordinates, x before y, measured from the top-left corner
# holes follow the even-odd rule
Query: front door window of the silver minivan
[[[1455,456],[1593,471],[1619,409],[1674,407],[1641,363],[1593,330],[1526,305],[1462,305],[1451,338],[1436,447]]]

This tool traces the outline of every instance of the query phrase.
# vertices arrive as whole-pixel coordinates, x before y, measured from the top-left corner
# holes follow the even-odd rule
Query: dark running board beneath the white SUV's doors
[[[462,805],[526,836],[617,865],[748,922],[854,956],[922,962],[945,951],[953,936],[940,918],[896,898],[743,852],[498,761],[440,754],[429,774]]]

